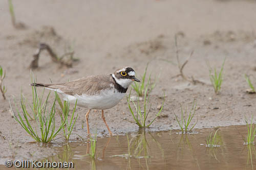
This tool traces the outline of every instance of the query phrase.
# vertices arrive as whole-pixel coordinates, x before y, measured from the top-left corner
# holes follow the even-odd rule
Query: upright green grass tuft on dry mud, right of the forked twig
[[[215,91],[216,94],[218,94],[220,89],[221,89],[221,84],[222,84],[222,81],[223,81],[222,72],[223,72],[225,60],[226,60],[226,58],[224,59],[224,61],[222,63],[221,70],[220,70],[219,74],[217,74],[216,68],[214,69],[214,73],[212,73],[212,69],[209,68],[210,82],[211,82],[212,86],[214,87],[214,91]]]

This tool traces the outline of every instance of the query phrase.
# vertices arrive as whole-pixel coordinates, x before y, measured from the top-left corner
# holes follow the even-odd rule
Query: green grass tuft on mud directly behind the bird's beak
[[[147,74],[147,66],[148,66],[148,63],[146,65],[141,82],[140,83],[134,82],[134,84],[132,84],[132,88],[136,91],[136,93],[139,96],[143,96],[144,93],[146,93],[146,88],[148,88],[147,92],[150,93],[156,86],[156,82],[154,82],[154,83],[151,82],[151,74],[147,79],[147,83],[145,82],[146,74]]]

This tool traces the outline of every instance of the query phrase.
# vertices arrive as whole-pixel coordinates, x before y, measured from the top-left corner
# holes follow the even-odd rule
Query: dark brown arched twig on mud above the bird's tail
[[[34,68],[38,67],[39,55],[42,50],[46,50],[49,53],[53,62],[60,63],[60,65],[66,65],[67,67],[72,67],[72,62],[65,62],[62,59],[65,56],[71,56],[71,58],[72,58],[74,55],[74,52],[68,52],[68,53],[65,53],[62,56],[58,57],[56,55],[56,53],[53,52],[52,48],[48,44],[40,43],[36,50],[36,53],[33,55],[33,61],[30,64],[30,68],[34,69]]]

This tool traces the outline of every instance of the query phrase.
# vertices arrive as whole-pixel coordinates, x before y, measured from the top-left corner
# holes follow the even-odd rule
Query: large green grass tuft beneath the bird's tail
[[[23,127],[23,129],[37,142],[50,142],[52,141],[60,132],[60,130],[66,125],[67,117],[64,118],[64,121],[60,123],[59,127],[56,128],[55,124],[55,113],[56,113],[56,99],[57,96],[55,94],[55,99],[53,104],[49,107],[49,96],[50,93],[47,95],[47,98],[44,103],[42,103],[42,98],[44,96],[44,92],[40,97],[38,97],[36,87],[33,88],[33,107],[31,107],[31,111],[34,114],[34,118],[36,120],[37,127],[32,127],[32,123],[29,120],[29,112],[26,107],[26,102],[21,94],[20,104],[22,107],[22,113],[19,112],[18,107],[16,106],[17,115],[14,114],[14,119]],[[10,103],[10,101],[9,101]],[[11,107],[11,103],[10,103]],[[36,109],[34,109],[36,108]],[[12,107],[11,107],[12,110]],[[13,111],[13,110],[12,110]]]

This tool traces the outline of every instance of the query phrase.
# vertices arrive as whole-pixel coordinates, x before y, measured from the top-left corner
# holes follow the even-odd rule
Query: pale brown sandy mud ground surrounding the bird
[[[70,47],[79,62],[73,71],[51,61],[43,52],[39,67],[33,70],[38,82],[67,82],[81,77],[111,74],[120,66],[131,66],[138,77],[148,62],[152,77],[158,78],[152,91],[153,119],[165,91],[162,116],[153,130],[177,129],[173,114],[180,113],[180,103],[190,107],[197,99],[196,128],[242,125],[244,115],[256,110],[255,94],[245,93],[244,74],[256,84],[256,2],[255,1],[13,1],[17,22],[27,26],[14,29],[7,1],[0,2],[0,65],[6,69],[4,85],[8,99],[17,100],[20,89],[32,101],[29,65],[39,42],[51,45],[59,55]],[[178,34],[180,59],[193,57],[184,68],[188,77],[206,85],[193,85],[180,77],[176,61],[174,35]],[[209,86],[207,63],[218,70],[226,58],[220,94]],[[166,60],[170,62],[166,62]],[[75,71],[74,71],[75,70]],[[61,76],[62,75],[62,76]],[[64,75],[64,76],[63,76]],[[28,143],[33,139],[18,125],[9,112],[8,100],[0,98],[0,164],[7,159],[40,159],[54,154],[51,145]],[[86,108],[79,114],[74,132],[86,138],[82,129]],[[105,111],[106,121],[115,134],[136,131],[126,100]],[[195,119],[196,120],[196,119]],[[194,121],[195,121],[194,120]],[[107,131],[100,112],[90,114],[90,128],[99,134]],[[84,124],[86,126],[86,124]],[[76,138],[76,136],[72,136]]]

